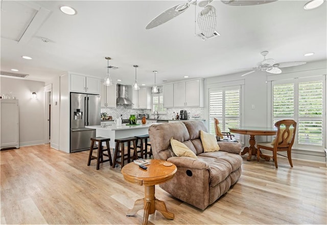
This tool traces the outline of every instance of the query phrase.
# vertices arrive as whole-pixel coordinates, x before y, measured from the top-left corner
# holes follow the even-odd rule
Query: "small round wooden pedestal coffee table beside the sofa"
[[[155,185],[171,180],[177,171],[177,167],[174,164],[165,166],[164,163],[167,163],[165,160],[152,159],[149,161],[150,164],[146,165],[148,169],[142,169],[134,162],[122,168],[126,181],[141,186],[144,185],[145,197],[137,199],[134,207],[127,212],[128,216],[133,216],[138,210],[144,209],[143,224],[148,223],[149,215],[156,210],[161,212],[165,218],[174,219],[174,214],[168,212],[165,202],[156,199],[154,193]]]

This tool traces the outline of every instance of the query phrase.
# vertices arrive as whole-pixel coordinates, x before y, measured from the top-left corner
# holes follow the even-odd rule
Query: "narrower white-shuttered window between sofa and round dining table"
[[[221,131],[240,127],[241,86],[209,89],[209,132],[215,134],[214,118],[219,120]],[[239,135],[235,134],[239,139]]]

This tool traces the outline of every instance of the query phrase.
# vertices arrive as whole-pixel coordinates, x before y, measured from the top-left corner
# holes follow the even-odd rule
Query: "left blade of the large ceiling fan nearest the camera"
[[[183,3],[183,4],[179,4],[177,6],[173,6],[172,8],[167,9],[165,12],[162,12],[160,15],[158,15],[157,17],[152,19],[148,23],[146,29],[149,30],[149,29],[155,28],[155,27],[175,18],[179,14],[185,12],[186,9],[188,9],[189,7],[190,7],[190,3]]]

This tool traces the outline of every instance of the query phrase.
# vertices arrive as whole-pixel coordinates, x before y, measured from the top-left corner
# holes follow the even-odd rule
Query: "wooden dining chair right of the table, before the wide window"
[[[296,122],[293,119],[284,119],[275,122],[275,127],[277,128],[277,135],[272,142],[261,142],[256,143],[258,162],[260,160],[260,149],[266,149],[272,151],[272,158],[275,162],[275,167],[278,168],[277,165],[277,152],[287,152],[288,161],[293,167],[292,164],[292,146],[295,139],[296,132]]]

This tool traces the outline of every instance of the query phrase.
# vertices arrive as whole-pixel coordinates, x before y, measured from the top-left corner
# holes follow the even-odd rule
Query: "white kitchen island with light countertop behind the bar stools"
[[[122,126],[116,126],[115,124],[108,124],[107,126],[85,126],[85,127],[96,129],[97,137],[110,138],[109,144],[114,151],[115,139],[149,134],[148,132],[149,127],[152,124],[156,124],[156,123],[137,124],[134,126],[129,126],[128,124],[123,123]]]

